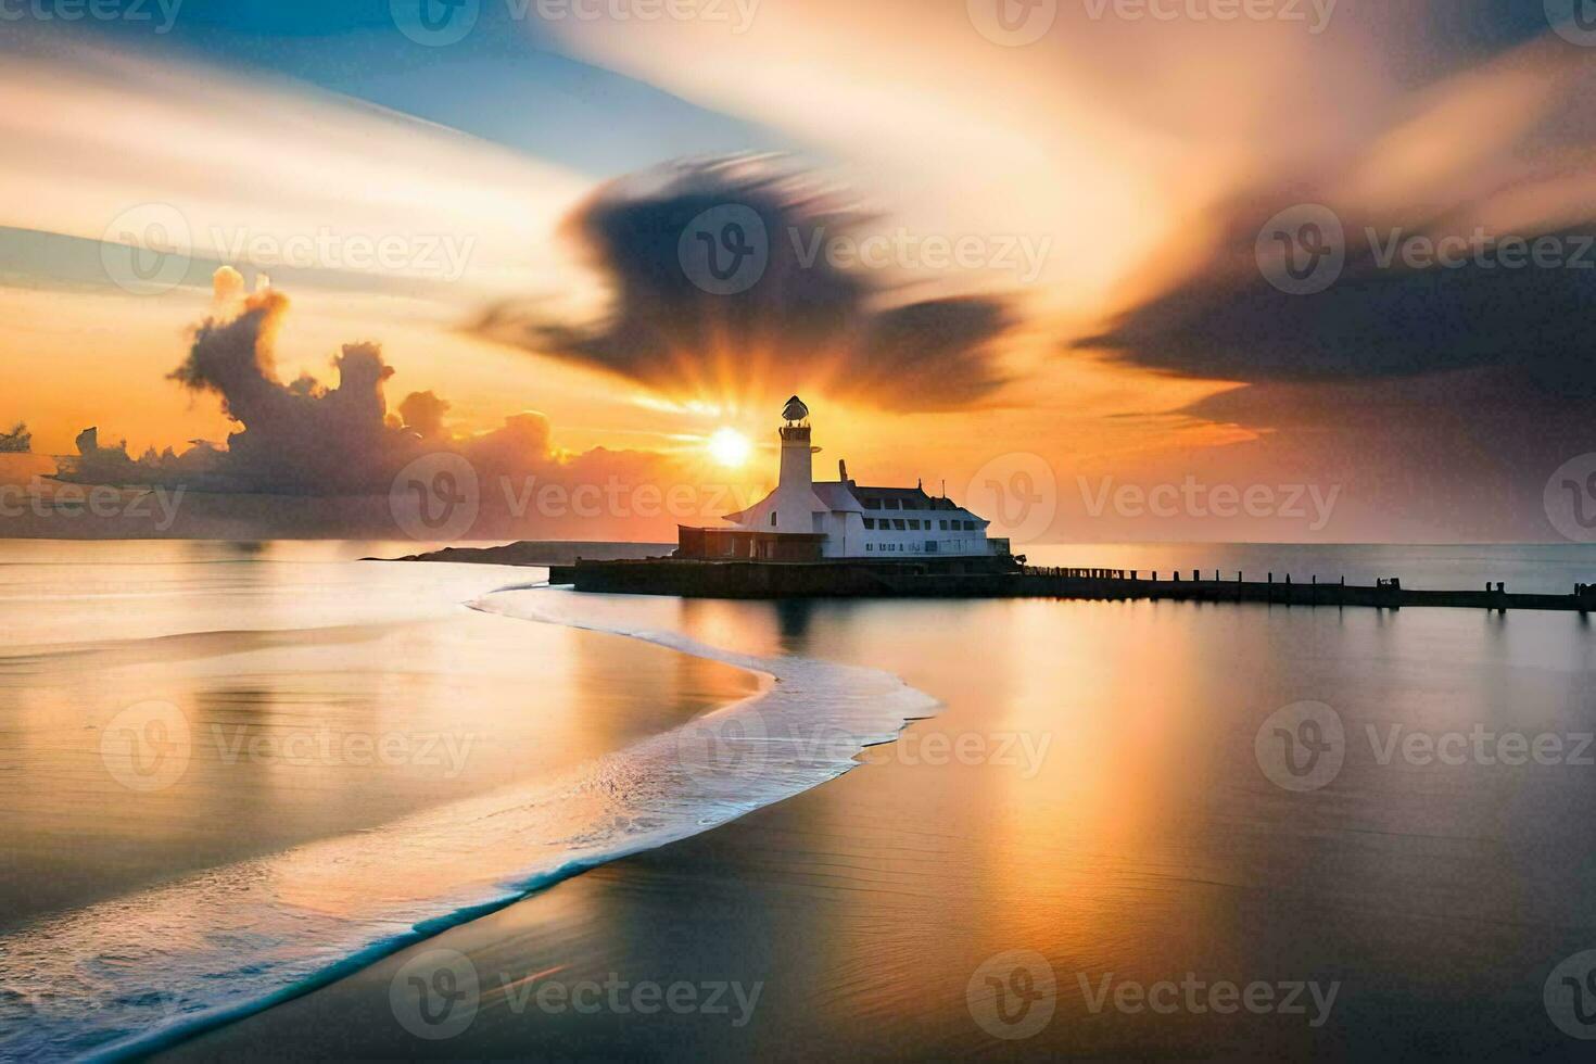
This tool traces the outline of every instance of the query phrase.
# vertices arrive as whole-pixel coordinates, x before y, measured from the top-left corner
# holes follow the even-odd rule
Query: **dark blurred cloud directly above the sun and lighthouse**
[[[683,234],[728,207],[758,219],[768,255],[752,287],[715,294],[689,276]],[[749,160],[637,175],[608,185],[567,227],[611,287],[602,321],[573,325],[536,303],[506,303],[479,330],[672,394],[763,397],[812,384],[892,410],[990,399],[1005,383],[996,362],[1012,324],[1004,303],[903,303],[895,278],[838,268],[820,252],[868,223],[812,180]]]

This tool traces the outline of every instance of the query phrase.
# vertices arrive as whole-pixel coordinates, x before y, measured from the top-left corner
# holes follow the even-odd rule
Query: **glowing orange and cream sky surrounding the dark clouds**
[[[1459,217],[1524,227],[1578,217],[1596,187],[1583,177],[1583,134],[1562,131],[1534,155],[1559,182],[1542,174],[1526,191],[1523,142],[1590,69],[1545,41],[1454,72],[1444,56],[1414,62],[1412,49],[1409,65],[1396,64],[1411,32],[1401,16],[1345,16],[1310,35],[1282,22],[1128,24],[1066,5],[1045,38],[1005,48],[975,32],[964,6],[772,2],[736,40],[693,21],[565,21],[536,27],[536,43],[784,142],[790,166],[843,190],[878,231],[1045,247],[1026,270],[894,262],[876,278],[905,300],[983,295],[1017,308],[996,351],[1010,383],[975,408],[915,413],[883,396],[833,397],[819,372],[755,373],[757,394],[646,388],[469,335],[501,298],[570,321],[605,313],[606,278],[565,225],[618,172],[287,75],[85,38],[14,51],[0,67],[0,227],[115,241],[129,209],[172,206],[200,281],[160,294],[85,282],[72,258],[83,249],[64,244],[21,268],[0,263],[0,394],[11,400],[0,416],[26,420],[35,451],[49,455],[70,453],[89,424],[134,455],[222,442],[238,426],[219,399],[166,375],[212,313],[206,263],[235,262],[236,234],[268,247],[329,231],[337,246],[391,234],[410,252],[453,234],[468,254],[447,276],[436,262],[305,268],[270,252],[236,262],[294,300],[278,376],[330,381],[343,345],[373,341],[394,368],[391,407],[431,389],[450,402],[458,437],[536,410],[570,453],[702,453],[723,428],[768,448],[780,402],[798,391],[816,412],[820,475],[847,458],[863,480],[966,488],[993,459],[1034,453],[1065,483],[1178,480],[1197,467],[1278,480],[1301,474],[1291,456],[1329,451],[1310,432],[1277,437],[1266,416],[1213,413],[1207,400],[1248,381],[1143,368],[1071,343],[1184,278],[1251,268],[1221,257],[1232,234],[1216,206],[1261,175],[1317,175],[1337,207],[1374,217],[1422,217],[1414,204],[1440,203],[1446,188],[1451,207],[1472,196]],[[736,368],[741,354],[726,357]],[[1339,453],[1357,456],[1345,443]],[[768,456],[757,451],[737,475],[768,479]]]

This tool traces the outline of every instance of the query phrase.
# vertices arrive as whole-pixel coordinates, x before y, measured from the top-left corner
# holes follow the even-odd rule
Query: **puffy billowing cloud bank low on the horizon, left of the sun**
[[[332,359],[335,383],[308,375],[282,381],[275,348],[289,300],[276,290],[244,297],[239,284],[231,270],[217,273],[217,313],[195,329],[171,373],[241,424],[225,445],[196,440],[182,453],[132,458],[126,443],[102,445],[91,428],[77,439],[78,455],[61,461],[59,482],[182,488],[187,520],[172,534],[243,526],[251,534],[415,536],[391,495],[413,463],[444,459],[463,459],[476,485],[477,517],[450,538],[674,539],[677,520],[707,523],[736,509],[725,491],[705,498],[701,479],[675,456],[563,451],[536,412],[460,435],[447,424],[448,400],[433,391],[412,392],[389,410],[394,370],[375,343],[345,345]]]

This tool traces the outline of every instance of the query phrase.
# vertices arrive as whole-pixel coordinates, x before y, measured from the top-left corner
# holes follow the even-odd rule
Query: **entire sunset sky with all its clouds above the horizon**
[[[1034,539],[1558,538],[1548,479],[1596,450],[1596,32],[1556,0],[463,5],[0,21],[0,428],[41,456],[10,482],[96,426],[174,448],[193,534],[378,534],[327,499],[428,450],[757,490],[798,392],[819,477],[980,501],[1039,458]],[[1344,227],[1323,290],[1272,271],[1299,204]],[[681,239],[728,207],[768,234],[729,294]],[[152,234],[184,254],[129,273]],[[345,389],[294,383],[340,353]],[[1334,507],[1093,502],[1192,482]]]

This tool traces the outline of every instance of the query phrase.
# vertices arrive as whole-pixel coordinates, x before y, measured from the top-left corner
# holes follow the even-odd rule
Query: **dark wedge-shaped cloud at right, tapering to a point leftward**
[[[1184,376],[1235,381],[1360,381],[1467,368],[1513,370],[1523,388],[1596,397],[1590,306],[1596,301],[1596,225],[1529,233],[1511,246],[1483,244],[1465,265],[1384,265],[1365,225],[1344,219],[1347,263],[1314,295],[1282,292],[1253,255],[1267,211],[1240,215],[1240,242],[1210,266],[1076,341]],[[1379,247],[1395,230],[1376,228]],[[1427,233],[1430,233],[1427,236]],[[1424,223],[1404,236],[1438,239]],[[1460,236],[1460,234],[1459,234]],[[1555,241],[1569,265],[1535,266],[1526,247]],[[1454,246],[1456,247],[1456,246]],[[1518,391],[1518,389],[1515,389]]]

